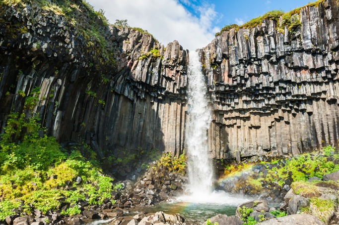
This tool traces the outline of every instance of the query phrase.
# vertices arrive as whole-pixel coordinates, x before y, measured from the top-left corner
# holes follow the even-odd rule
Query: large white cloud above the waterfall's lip
[[[191,50],[202,48],[213,40],[214,31],[218,29],[212,23],[217,16],[213,4],[205,3],[201,6],[191,4],[200,15],[198,18],[177,0],[88,0],[88,2],[96,10],[102,8],[111,23],[116,19],[127,19],[130,26],[147,30],[165,46],[177,40],[184,48]]]

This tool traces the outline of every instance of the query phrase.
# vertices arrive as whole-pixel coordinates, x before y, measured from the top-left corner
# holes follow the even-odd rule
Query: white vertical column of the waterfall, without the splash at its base
[[[188,153],[188,188],[194,197],[212,192],[213,168],[208,158],[207,129],[211,121],[207,86],[199,54],[190,51],[188,68],[188,122],[186,143]]]

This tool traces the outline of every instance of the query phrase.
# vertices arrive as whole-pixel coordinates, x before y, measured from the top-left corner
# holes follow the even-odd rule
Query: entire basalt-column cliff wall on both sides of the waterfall
[[[39,113],[47,135],[84,141],[100,157],[140,147],[183,152],[188,51],[99,17],[100,35],[76,29],[91,13],[74,2],[76,26],[34,3],[1,5],[0,129],[11,111]],[[265,20],[223,32],[200,50],[213,96],[210,157],[297,155],[339,144],[337,1],[302,8],[299,17],[293,34]]]

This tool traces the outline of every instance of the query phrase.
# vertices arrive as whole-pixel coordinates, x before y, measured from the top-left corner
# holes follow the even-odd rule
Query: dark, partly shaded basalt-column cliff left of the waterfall
[[[77,26],[86,26],[93,18],[79,2]],[[98,17],[99,42],[100,35],[95,39],[35,3],[2,4],[0,11],[2,132],[9,112],[39,113],[47,135],[85,141],[101,157],[140,147],[183,151],[188,52],[177,41],[164,47],[151,35],[107,26]],[[25,99],[35,87],[38,100],[29,109]]]

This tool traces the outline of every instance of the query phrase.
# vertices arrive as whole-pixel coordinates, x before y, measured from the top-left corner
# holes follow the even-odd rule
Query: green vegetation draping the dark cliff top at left
[[[8,6],[13,6],[20,12],[27,5],[38,6],[42,9],[43,14],[55,14],[61,18],[65,22],[65,29],[78,37],[79,45],[81,45],[79,51],[82,50],[83,54],[90,58],[97,71],[100,71],[104,64],[113,68],[116,66],[113,49],[108,46],[106,40],[108,20],[104,16],[103,10],[95,11],[93,6],[84,0],[3,0],[0,1],[0,13],[5,15],[2,12],[6,11]],[[31,19],[31,23],[36,22],[36,20]],[[12,24],[8,23],[5,18],[0,17],[0,23],[8,28],[6,29],[8,34],[13,34],[12,38],[16,38],[19,33],[30,32],[21,22]],[[21,27],[25,29],[22,32],[18,31],[18,29],[23,29]]]

